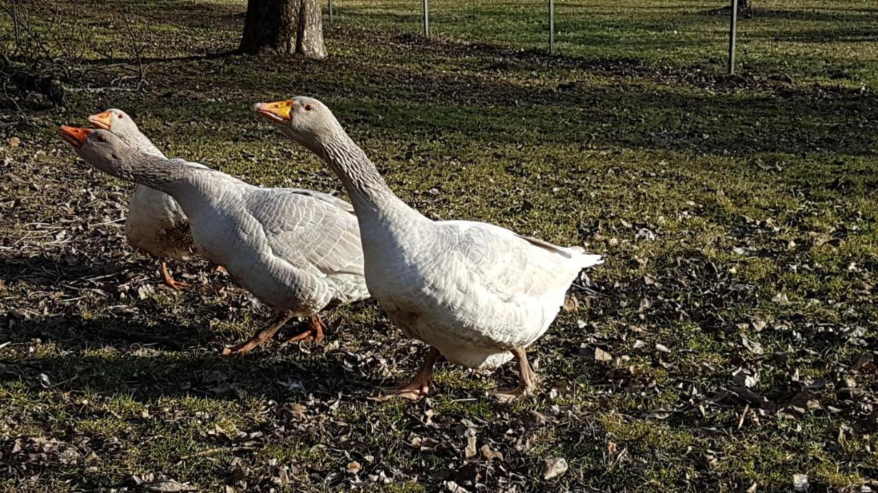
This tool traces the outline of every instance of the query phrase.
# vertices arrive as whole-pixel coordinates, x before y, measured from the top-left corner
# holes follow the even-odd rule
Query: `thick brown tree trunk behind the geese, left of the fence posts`
[[[258,54],[327,55],[320,0],[248,0],[240,50]]]

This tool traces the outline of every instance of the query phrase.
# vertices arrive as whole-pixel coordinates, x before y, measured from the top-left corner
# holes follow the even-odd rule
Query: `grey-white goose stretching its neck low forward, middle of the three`
[[[305,189],[263,189],[192,163],[146,154],[105,130],[62,126],[61,137],[104,173],[173,196],[190,218],[198,252],[279,312],[253,338],[223,354],[268,341],[292,317],[309,329],[290,340],[323,338],[319,313],[369,297],[363,250],[350,204]]]

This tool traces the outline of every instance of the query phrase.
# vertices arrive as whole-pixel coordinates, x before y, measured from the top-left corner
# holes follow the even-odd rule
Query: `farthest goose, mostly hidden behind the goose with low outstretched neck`
[[[129,146],[144,154],[164,157],[153,143],[140,132],[137,124],[125,111],[110,109],[89,117],[95,128],[108,130]],[[207,168],[198,162],[187,163],[196,168]],[[160,259],[188,261],[195,257],[195,245],[189,231],[189,218],[180,204],[172,196],[145,185],[134,185],[131,201],[128,203],[128,217],[125,221],[125,236],[128,243],[153,254]],[[176,281],[168,272],[167,263],[162,260],[162,277],[165,284],[173,289],[188,288],[186,282]]]

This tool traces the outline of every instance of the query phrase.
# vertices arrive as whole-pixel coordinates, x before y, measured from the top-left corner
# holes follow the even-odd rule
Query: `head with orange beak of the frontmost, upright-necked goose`
[[[257,103],[253,109],[279,126],[284,135],[315,152],[335,136],[344,134],[332,111],[313,97]]]

